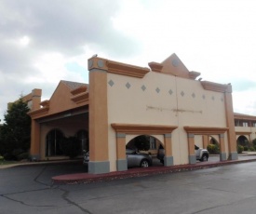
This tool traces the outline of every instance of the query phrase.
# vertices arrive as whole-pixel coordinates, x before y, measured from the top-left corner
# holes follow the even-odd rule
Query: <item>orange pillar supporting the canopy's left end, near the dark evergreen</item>
[[[40,125],[32,119],[31,123],[31,160],[40,160]]]

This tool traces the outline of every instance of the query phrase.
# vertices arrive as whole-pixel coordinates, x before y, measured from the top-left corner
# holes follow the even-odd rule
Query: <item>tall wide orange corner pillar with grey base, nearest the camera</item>
[[[107,67],[105,60],[91,58],[89,70],[88,173],[110,172],[108,148]]]

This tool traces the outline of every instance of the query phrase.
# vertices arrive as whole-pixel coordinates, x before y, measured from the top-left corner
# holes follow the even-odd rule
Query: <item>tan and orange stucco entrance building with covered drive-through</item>
[[[175,54],[148,66],[88,59],[88,85],[61,81],[29,113],[33,157],[65,158],[61,137],[77,136],[89,147],[89,173],[127,170],[126,145],[146,135],[165,147],[165,166],[195,164],[195,144],[211,139],[221,161],[237,159],[231,85],[197,80]]]

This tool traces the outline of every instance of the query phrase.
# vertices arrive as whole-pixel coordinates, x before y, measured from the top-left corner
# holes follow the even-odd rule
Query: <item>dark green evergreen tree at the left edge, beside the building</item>
[[[20,98],[4,115],[5,123],[0,129],[0,154],[6,159],[19,159],[19,156],[28,154],[31,141],[29,110],[27,103]]]

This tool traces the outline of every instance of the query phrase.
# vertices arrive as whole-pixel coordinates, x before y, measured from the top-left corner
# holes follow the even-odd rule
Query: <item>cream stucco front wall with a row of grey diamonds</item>
[[[174,165],[188,163],[184,126],[226,127],[223,94],[205,90],[199,81],[155,72],[143,78],[108,74],[107,81],[114,83],[107,88],[112,170],[115,170],[116,157],[112,123],[178,126],[171,135]],[[144,91],[143,86],[146,87]],[[128,142],[131,136],[127,138]],[[195,140],[202,143],[202,138],[198,139]]]

